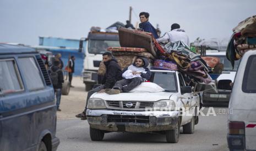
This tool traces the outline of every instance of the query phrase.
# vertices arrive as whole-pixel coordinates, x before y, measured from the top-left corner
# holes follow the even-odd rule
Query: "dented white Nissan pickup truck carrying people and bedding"
[[[184,133],[194,132],[199,95],[185,85],[178,71],[151,72],[150,82],[165,91],[95,93],[90,97],[86,115],[92,141],[101,141],[105,132],[117,131],[165,133],[168,143],[177,143],[181,126]]]

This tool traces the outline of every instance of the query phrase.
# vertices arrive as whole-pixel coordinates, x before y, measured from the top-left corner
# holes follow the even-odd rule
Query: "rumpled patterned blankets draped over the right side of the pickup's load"
[[[206,62],[201,59],[199,54],[190,51],[189,47],[182,41],[169,42],[164,45],[165,60],[157,60],[154,63],[155,67],[161,67],[168,61],[171,65],[176,63],[177,70],[188,75],[189,79],[197,82],[208,84],[211,82],[211,77],[208,74],[209,68]]]

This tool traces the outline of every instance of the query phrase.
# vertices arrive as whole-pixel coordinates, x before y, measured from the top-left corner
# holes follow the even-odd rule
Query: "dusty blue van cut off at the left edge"
[[[57,150],[55,94],[40,54],[0,44],[0,150]]]

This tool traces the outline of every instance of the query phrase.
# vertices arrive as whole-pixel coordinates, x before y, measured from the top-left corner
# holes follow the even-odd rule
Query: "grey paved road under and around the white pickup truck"
[[[224,111],[222,111],[224,109]],[[204,113],[208,110],[204,109]],[[215,108],[216,116],[199,118],[195,133],[181,135],[179,142],[166,143],[165,135],[151,133],[106,133],[104,141],[91,141],[87,121],[57,121],[58,150],[228,150],[226,108]]]

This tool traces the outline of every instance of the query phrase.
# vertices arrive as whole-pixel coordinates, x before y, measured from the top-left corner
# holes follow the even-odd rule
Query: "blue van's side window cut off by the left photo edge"
[[[0,60],[0,94],[17,92],[23,89],[14,59]]]

